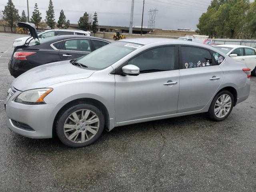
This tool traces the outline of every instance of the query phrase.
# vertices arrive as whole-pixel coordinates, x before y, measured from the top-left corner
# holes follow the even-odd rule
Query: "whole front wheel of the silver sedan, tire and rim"
[[[70,147],[84,147],[94,143],[104,129],[104,115],[94,105],[77,104],[60,114],[56,133],[61,142]]]

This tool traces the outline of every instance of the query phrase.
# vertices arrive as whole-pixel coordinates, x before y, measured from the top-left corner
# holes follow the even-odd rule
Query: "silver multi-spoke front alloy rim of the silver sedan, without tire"
[[[68,116],[63,131],[66,138],[71,142],[84,143],[97,134],[99,127],[98,115],[92,110],[81,109]]]

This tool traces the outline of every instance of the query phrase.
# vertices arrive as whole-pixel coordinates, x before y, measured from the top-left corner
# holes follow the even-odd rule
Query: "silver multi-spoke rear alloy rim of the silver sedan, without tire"
[[[221,95],[215,103],[214,113],[216,117],[225,117],[231,109],[232,99],[228,94]]]

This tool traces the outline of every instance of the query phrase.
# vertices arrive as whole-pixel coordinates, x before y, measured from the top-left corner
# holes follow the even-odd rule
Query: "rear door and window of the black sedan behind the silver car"
[[[92,52],[90,39],[68,39],[62,43],[59,52],[62,60],[71,60],[82,57]]]

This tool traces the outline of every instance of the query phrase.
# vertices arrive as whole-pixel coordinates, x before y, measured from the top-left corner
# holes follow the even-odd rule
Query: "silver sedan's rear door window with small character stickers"
[[[212,66],[210,51],[197,47],[181,46],[182,69]]]

